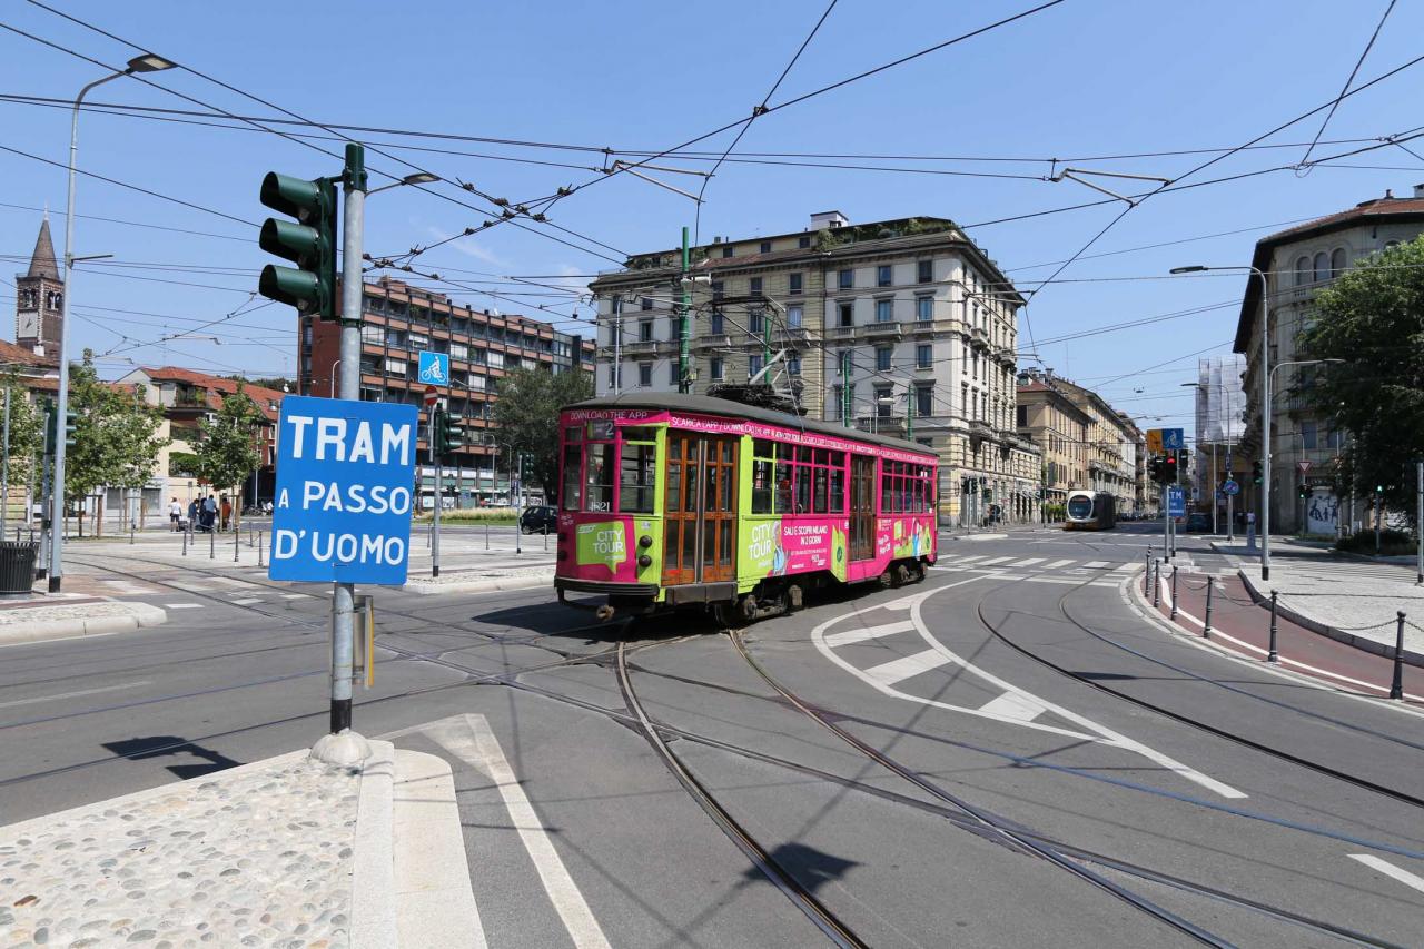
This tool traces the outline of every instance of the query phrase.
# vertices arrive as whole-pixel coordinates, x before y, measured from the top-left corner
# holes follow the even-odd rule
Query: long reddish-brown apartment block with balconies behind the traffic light
[[[447,490],[466,507],[507,497],[514,480],[511,456],[491,419],[500,379],[521,366],[590,372],[592,341],[530,316],[474,309],[389,276],[366,281],[362,289],[362,400],[422,405],[433,386],[447,409],[464,419],[470,442],[444,469]],[[333,396],[340,382],[340,325],[303,316],[298,332],[302,395]],[[419,378],[422,352],[450,358],[449,380]],[[427,450],[422,426],[422,459]],[[434,467],[423,465],[420,477],[429,503]]]

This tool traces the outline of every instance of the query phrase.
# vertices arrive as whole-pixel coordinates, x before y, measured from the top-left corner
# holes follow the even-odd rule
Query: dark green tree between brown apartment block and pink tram
[[[581,370],[514,369],[500,379],[494,402],[496,436],[507,450],[531,457],[525,472],[553,499],[558,479],[558,410],[594,395],[594,379]]]

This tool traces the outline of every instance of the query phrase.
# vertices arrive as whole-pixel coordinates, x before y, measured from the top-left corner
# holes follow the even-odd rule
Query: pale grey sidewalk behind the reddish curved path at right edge
[[[1270,580],[1260,579],[1256,556],[1212,541],[1219,553],[1245,557],[1240,579],[1257,601],[1277,593],[1280,616],[1356,648],[1394,654],[1397,613],[1404,611],[1404,658],[1424,665],[1424,587],[1413,566],[1336,556],[1330,549],[1272,539]]]

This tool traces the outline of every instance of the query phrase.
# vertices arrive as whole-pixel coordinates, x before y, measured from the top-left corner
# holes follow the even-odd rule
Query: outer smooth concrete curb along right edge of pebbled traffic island
[[[483,948],[454,775],[444,758],[396,751],[394,858],[396,945]]]

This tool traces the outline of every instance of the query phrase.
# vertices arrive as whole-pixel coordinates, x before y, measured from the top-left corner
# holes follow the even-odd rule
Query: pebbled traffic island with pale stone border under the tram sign
[[[0,945],[456,945],[450,767],[370,744],[357,768],[296,751],[0,826]],[[431,899],[437,923],[410,918]]]

